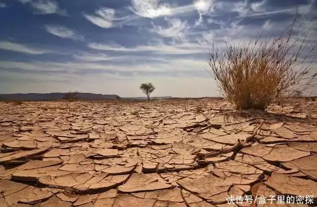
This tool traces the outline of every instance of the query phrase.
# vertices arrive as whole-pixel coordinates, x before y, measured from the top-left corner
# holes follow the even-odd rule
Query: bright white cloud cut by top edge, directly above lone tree
[[[168,16],[172,10],[168,3],[161,3],[160,0],[132,0],[134,13],[146,18],[156,18],[159,16]]]

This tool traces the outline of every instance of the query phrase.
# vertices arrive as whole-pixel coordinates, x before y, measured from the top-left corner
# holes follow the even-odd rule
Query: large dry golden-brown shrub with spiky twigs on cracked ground
[[[312,87],[317,73],[309,76],[315,45],[300,33],[297,18],[278,37],[266,39],[263,32],[255,40],[217,48],[212,45],[208,63],[220,91],[236,109],[264,110],[272,103],[285,103],[294,91]],[[307,65],[307,63],[309,63]]]

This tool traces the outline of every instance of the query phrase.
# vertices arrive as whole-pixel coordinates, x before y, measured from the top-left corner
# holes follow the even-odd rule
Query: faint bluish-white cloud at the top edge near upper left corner
[[[19,0],[22,3],[28,3],[34,14],[60,14],[66,15],[66,10],[61,10],[58,3],[54,0]]]

